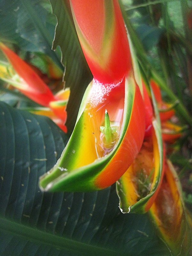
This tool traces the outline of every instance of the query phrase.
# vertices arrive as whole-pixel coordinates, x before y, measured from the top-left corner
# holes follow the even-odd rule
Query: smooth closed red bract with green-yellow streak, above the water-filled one
[[[77,34],[94,78],[102,83],[122,79],[131,69],[131,55],[118,1],[72,0],[71,4]]]

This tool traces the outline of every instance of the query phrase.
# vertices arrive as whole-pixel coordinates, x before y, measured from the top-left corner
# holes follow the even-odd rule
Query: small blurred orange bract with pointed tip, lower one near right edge
[[[167,143],[174,143],[181,137],[188,126],[180,126],[166,121],[161,123],[162,138]]]

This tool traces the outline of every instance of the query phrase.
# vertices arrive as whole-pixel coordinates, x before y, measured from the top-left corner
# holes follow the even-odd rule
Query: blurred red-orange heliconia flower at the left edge
[[[0,78],[12,84],[20,92],[28,96],[28,98],[43,105],[44,107],[48,107],[49,110],[45,111],[44,109],[44,114],[51,117],[52,120],[54,120],[55,123],[66,132],[66,107],[70,95],[70,89],[66,88],[65,90],[61,90],[53,95],[49,87],[37,75],[34,68],[22,60],[15,52],[3,43],[0,43],[0,49],[4,52],[11,64],[1,63]],[[54,115],[51,112],[53,112]],[[40,114],[40,112],[38,114]]]

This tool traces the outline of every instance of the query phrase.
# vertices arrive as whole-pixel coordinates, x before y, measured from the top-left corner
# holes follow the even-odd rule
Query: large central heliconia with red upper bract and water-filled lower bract
[[[133,76],[118,1],[72,0],[71,6],[94,78],[59,161],[40,178],[40,188],[45,191],[110,186],[132,164],[145,132],[144,102]]]

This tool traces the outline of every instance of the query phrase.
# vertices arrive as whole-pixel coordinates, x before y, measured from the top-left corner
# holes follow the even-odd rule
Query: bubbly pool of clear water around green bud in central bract
[[[124,78],[115,84],[101,84],[93,79],[90,100],[85,111],[88,114],[90,132],[94,135],[94,147],[97,158],[108,155],[115,147],[121,132],[124,113]],[[111,143],[106,144],[105,135],[100,132],[104,126],[105,111],[107,110],[111,127],[116,128]],[[90,135],[90,138],[92,136]]]

